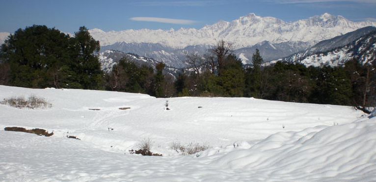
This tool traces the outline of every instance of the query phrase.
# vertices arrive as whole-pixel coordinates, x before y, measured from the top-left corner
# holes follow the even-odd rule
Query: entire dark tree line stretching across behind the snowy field
[[[11,34],[0,51],[0,84],[27,88],[75,88],[147,93],[157,97],[254,97],[290,102],[353,105],[376,104],[376,61],[352,59],[342,66],[306,67],[276,62],[262,66],[259,50],[245,68],[231,44],[221,40],[207,55],[188,54],[190,68],[179,76],[137,65],[127,57],[104,73],[94,53],[99,51],[85,27],[73,37],[46,26]]]

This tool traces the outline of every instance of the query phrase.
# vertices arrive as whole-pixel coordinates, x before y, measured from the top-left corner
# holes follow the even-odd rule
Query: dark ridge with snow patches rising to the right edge
[[[348,44],[343,45],[345,43]],[[343,65],[346,61],[349,61],[352,58],[355,58],[364,64],[375,61],[375,54],[376,28],[367,27],[319,42],[307,51],[300,52],[283,59],[271,61],[266,65],[276,61],[286,61],[299,62],[305,64],[306,66],[337,66]]]

